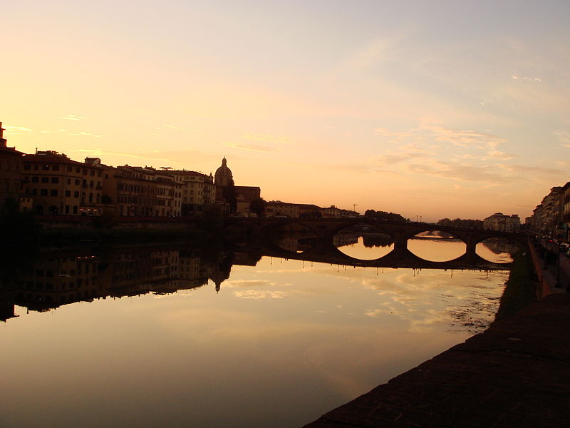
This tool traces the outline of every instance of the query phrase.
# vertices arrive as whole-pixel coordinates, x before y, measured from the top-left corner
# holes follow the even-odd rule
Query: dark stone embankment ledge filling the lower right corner
[[[546,297],[305,428],[570,427],[570,293],[539,270]]]

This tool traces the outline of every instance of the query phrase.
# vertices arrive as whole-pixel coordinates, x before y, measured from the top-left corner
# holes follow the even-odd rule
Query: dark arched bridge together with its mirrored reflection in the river
[[[276,243],[279,230],[288,225],[306,230],[302,253],[286,250]],[[341,235],[343,230],[356,225],[370,226],[389,235],[394,244],[393,250],[375,260],[352,258],[338,250],[336,237]],[[527,245],[527,235],[522,233],[455,228],[427,223],[396,223],[367,218],[232,218],[227,220],[226,230],[232,237],[234,250],[276,258],[363,267],[503,270],[508,269],[510,263],[493,263],[484,260],[476,253],[477,244],[489,238],[505,238],[522,247]],[[408,240],[419,233],[434,231],[449,233],[461,240],[465,243],[465,253],[454,260],[435,262],[420,258],[408,250]]]

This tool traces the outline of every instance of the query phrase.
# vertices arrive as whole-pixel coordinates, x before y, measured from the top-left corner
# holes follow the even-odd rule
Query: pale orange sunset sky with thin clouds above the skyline
[[[523,218],[570,180],[569,1],[1,1],[9,146],[266,200]]]

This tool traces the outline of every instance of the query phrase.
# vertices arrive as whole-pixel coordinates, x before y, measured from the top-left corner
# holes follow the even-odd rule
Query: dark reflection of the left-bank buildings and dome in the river
[[[233,253],[201,248],[45,255],[0,287],[0,320],[17,316],[14,305],[43,312],[106,297],[191,290],[209,280],[219,291],[233,264],[254,265],[255,261],[247,255],[234,257]]]

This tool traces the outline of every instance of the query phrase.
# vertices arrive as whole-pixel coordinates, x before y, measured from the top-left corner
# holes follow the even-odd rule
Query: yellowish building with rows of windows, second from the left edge
[[[63,153],[38,151],[22,158],[25,198],[43,215],[99,215],[103,167],[72,161]]]

